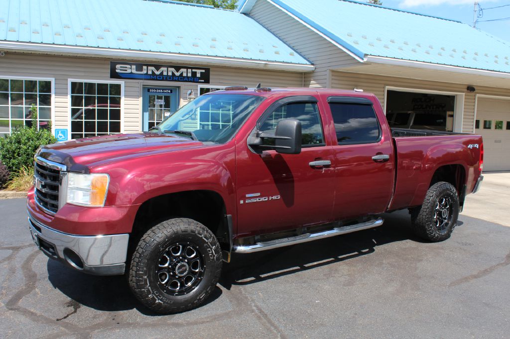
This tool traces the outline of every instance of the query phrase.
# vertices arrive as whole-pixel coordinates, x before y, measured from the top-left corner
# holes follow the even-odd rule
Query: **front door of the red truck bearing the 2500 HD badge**
[[[335,186],[334,156],[326,146],[324,122],[315,97],[290,97],[271,105],[258,123],[260,131],[274,131],[282,119],[302,126],[300,154],[249,150],[246,140],[236,154],[238,233],[269,233],[331,219]],[[331,165],[314,165],[326,161]]]

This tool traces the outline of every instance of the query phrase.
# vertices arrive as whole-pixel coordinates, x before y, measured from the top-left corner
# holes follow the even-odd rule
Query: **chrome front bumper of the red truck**
[[[124,273],[129,234],[77,236],[50,229],[29,214],[32,239],[49,258],[95,275]]]

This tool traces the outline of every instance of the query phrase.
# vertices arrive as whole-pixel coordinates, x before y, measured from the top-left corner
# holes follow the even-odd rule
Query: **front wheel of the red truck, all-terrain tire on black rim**
[[[208,228],[192,219],[169,219],[140,239],[131,259],[129,285],[137,299],[156,313],[184,312],[211,294],[221,265],[218,240]]]

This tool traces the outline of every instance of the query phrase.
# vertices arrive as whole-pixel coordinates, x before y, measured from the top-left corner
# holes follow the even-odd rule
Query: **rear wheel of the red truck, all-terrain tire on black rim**
[[[433,184],[428,189],[422,206],[411,212],[415,234],[433,242],[448,239],[457,224],[458,209],[455,187],[447,182]]]

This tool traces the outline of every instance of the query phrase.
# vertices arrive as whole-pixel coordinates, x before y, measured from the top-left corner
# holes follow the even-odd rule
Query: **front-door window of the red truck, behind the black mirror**
[[[324,136],[316,102],[291,102],[276,108],[262,123],[261,132],[274,132],[276,125],[283,119],[296,119],[301,122],[303,147],[324,145]],[[266,142],[274,140],[267,139]]]

